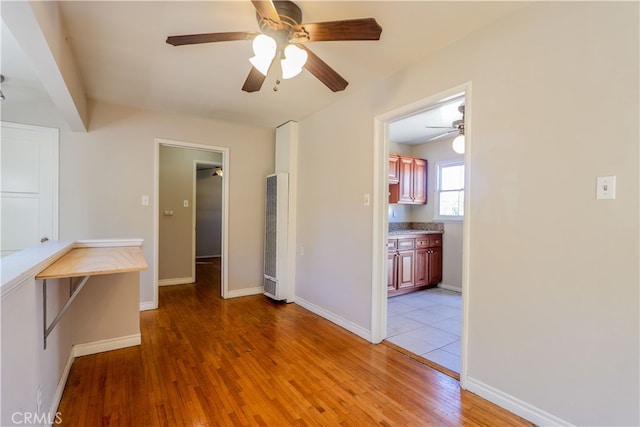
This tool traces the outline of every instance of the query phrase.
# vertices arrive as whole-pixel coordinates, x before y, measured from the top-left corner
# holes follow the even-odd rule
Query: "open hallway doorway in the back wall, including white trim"
[[[228,293],[228,206],[229,149],[181,141],[155,141],[155,286],[154,305],[158,306],[158,286],[194,283],[196,280],[198,229],[202,259],[216,261],[220,296]],[[215,168],[214,168],[215,167]],[[208,171],[198,169],[213,168]],[[219,173],[216,173],[220,170]],[[209,201],[198,203],[198,176],[209,174]],[[211,226],[198,226],[198,205],[211,215]],[[210,205],[217,205],[211,207]],[[209,206],[208,206],[209,205]],[[214,256],[215,255],[215,256]]]

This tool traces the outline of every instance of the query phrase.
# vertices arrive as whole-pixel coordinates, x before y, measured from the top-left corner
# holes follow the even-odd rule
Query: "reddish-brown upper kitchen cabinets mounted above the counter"
[[[389,156],[389,203],[411,205],[427,203],[426,160],[396,154]]]

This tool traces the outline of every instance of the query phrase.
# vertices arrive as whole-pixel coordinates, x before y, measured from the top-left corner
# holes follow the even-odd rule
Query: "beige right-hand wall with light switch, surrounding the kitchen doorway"
[[[638,40],[635,2],[536,3],[300,122],[297,295],[370,329],[373,119],[470,81],[466,384],[639,424]]]

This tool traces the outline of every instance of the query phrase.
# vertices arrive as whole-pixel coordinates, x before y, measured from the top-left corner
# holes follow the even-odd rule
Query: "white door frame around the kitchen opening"
[[[465,95],[465,218],[462,231],[462,336],[460,337],[460,386],[466,388],[467,349],[468,349],[468,313],[469,313],[469,277],[470,277],[470,226],[471,209],[469,192],[471,191],[471,162],[469,152],[472,141],[471,118],[473,112],[471,82],[420,99],[374,117],[373,130],[373,244],[372,244],[372,299],[371,299],[371,341],[380,343],[387,337],[387,239],[388,239],[388,158],[389,123],[424,111],[443,98],[458,93]]]

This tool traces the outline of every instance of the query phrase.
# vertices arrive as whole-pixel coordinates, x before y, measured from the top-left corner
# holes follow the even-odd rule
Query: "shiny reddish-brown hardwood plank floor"
[[[295,304],[219,295],[218,263],[161,287],[141,346],[76,359],[62,424],[531,425]]]

